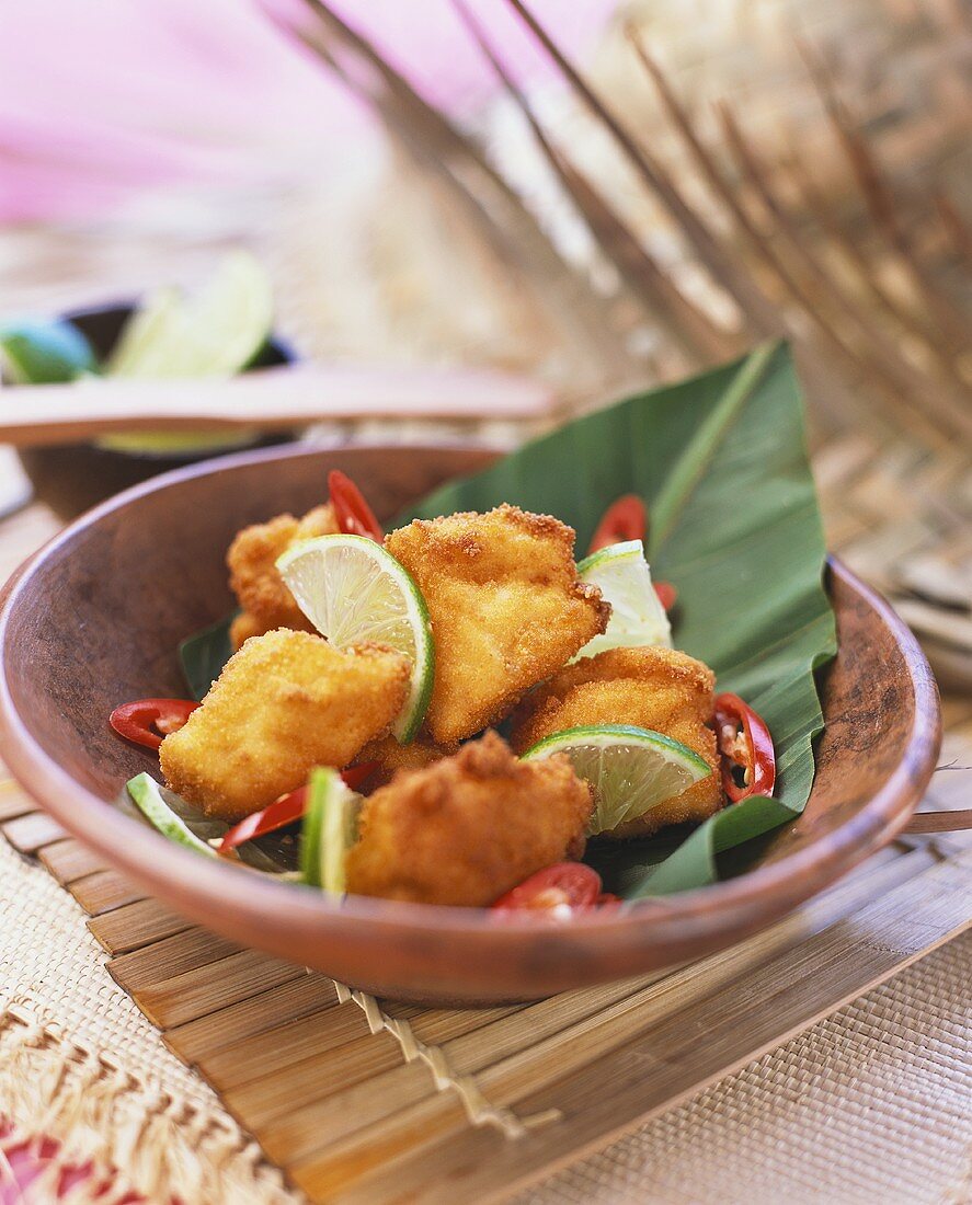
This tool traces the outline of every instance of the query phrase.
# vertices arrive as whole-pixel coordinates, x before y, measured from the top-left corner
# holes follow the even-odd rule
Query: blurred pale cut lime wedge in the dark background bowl
[[[270,337],[270,282],[247,251],[233,251],[194,296],[150,293],[125,323],[105,364],[109,376],[141,381],[230,377],[259,355]],[[206,452],[248,443],[254,431],[150,431],[109,435],[99,446],[147,455]]]

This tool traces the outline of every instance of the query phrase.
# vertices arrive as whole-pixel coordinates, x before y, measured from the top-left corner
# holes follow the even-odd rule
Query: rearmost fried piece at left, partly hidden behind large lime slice
[[[298,540],[334,535],[336,531],[334,509],[328,504],[308,511],[301,519],[295,519],[293,515],[279,515],[269,523],[257,523],[236,534],[227,553],[229,588],[242,607],[229,633],[234,648],[250,636],[259,636],[275,628],[314,631],[314,625],[277,572],[276,560]]]

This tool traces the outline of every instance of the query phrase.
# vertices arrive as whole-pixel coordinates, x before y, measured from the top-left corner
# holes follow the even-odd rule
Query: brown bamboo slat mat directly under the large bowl
[[[936,781],[936,805],[960,788],[960,776],[948,777]],[[189,924],[66,836],[10,780],[0,783],[0,829],[89,913],[111,975],[170,1050],[320,1201],[503,1197],[970,925],[967,840],[914,837],[690,966],[519,1007],[416,1009],[351,1000],[322,975]]]

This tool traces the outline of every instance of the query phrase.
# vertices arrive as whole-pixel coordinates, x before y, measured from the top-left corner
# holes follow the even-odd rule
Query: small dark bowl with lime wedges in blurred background
[[[76,310],[62,317],[74,323],[86,336],[99,360],[110,354],[125,319],[135,308],[131,304]],[[245,369],[271,368],[292,364],[293,349],[277,336],[271,336],[259,355]],[[29,389],[30,386],[13,388]],[[30,404],[29,396],[24,399]],[[82,511],[111,498],[129,486],[136,486],[160,472],[181,469],[199,460],[226,455],[245,448],[269,447],[294,439],[293,431],[264,434],[247,443],[230,443],[226,448],[209,447],[199,451],[122,452],[95,443],[54,443],[46,447],[21,448],[18,455],[30,478],[36,496],[62,518],[71,519]]]

